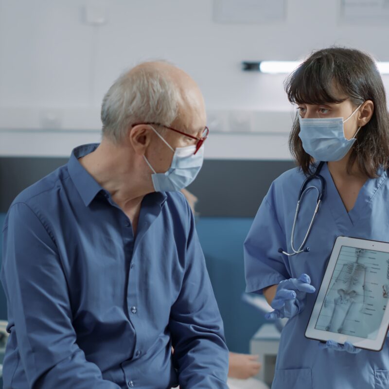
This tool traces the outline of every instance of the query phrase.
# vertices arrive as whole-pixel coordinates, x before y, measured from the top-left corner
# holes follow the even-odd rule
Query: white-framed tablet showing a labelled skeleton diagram
[[[389,243],[336,238],[305,336],[380,351],[389,325]]]

